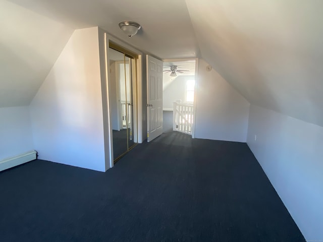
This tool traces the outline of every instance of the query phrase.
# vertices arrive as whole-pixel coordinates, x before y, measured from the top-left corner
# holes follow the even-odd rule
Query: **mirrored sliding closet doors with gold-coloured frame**
[[[114,161],[127,153],[134,145],[133,115],[133,65],[134,58],[109,48],[110,78],[109,101],[113,136]]]

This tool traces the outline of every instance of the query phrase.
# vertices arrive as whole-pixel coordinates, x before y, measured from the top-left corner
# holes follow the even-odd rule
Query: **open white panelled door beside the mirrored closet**
[[[147,142],[163,134],[163,62],[147,55]]]

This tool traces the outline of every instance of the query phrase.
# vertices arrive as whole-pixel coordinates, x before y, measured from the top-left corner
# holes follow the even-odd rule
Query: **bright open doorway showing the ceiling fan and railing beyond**
[[[195,58],[164,60],[165,131],[178,131],[194,138],[197,67],[198,59]]]

